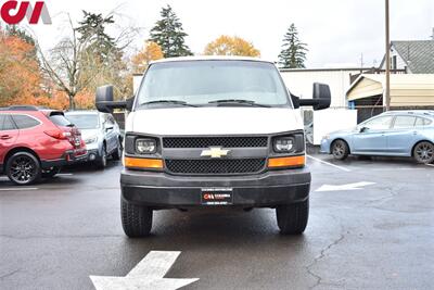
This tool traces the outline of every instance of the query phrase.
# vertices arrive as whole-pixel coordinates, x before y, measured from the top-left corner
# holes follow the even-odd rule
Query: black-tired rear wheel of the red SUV
[[[39,160],[28,152],[17,152],[9,157],[5,171],[9,179],[20,186],[31,185],[41,176]]]

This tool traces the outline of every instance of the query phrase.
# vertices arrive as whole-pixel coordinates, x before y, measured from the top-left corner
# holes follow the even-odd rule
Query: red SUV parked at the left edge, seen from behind
[[[0,172],[16,185],[52,177],[61,166],[86,159],[79,130],[62,111],[36,106],[0,109]]]

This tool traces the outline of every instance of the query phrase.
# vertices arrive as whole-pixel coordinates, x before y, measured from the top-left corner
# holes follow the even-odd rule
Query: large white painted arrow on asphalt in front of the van
[[[178,259],[179,251],[151,251],[125,277],[90,276],[97,290],[163,290],[178,289],[199,278],[164,278]]]

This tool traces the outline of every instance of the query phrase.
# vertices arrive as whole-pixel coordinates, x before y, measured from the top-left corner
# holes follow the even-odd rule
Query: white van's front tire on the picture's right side
[[[309,218],[309,200],[276,207],[280,234],[299,235],[305,231]]]

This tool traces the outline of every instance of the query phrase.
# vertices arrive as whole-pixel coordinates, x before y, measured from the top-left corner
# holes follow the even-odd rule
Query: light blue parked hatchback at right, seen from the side
[[[434,111],[390,111],[357,127],[329,134],[321,152],[337,160],[354,155],[411,156],[434,162]]]

